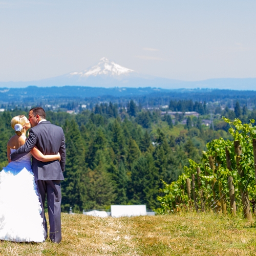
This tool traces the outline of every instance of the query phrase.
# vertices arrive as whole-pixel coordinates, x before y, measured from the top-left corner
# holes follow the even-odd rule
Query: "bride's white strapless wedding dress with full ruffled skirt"
[[[0,240],[45,241],[42,208],[30,159],[27,154],[0,172]]]

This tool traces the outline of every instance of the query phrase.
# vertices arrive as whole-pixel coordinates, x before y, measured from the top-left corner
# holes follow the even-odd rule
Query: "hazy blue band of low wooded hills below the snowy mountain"
[[[98,103],[112,101],[127,102],[135,99],[142,106],[168,105],[170,100],[193,100],[227,104],[239,100],[241,105],[253,108],[256,103],[256,91],[235,91],[219,89],[161,89],[161,88],[93,88],[81,86],[1,88],[0,104],[61,103]]]

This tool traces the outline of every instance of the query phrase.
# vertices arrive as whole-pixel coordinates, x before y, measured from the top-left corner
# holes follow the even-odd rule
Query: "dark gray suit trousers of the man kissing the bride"
[[[45,239],[47,238],[47,222],[45,217],[45,200],[47,195],[48,215],[50,222],[50,239],[52,242],[59,243],[61,241],[61,223],[60,223],[60,204],[61,191],[59,180],[37,180],[37,189],[39,199],[42,206],[41,217],[44,220]]]

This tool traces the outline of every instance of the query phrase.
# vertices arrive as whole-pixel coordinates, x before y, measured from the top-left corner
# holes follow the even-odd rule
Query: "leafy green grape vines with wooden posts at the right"
[[[159,213],[196,209],[233,215],[243,212],[251,218],[251,206],[254,210],[256,204],[256,127],[254,120],[248,124],[238,118],[223,120],[230,125],[233,141],[220,138],[207,143],[201,163],[189,159],[177,181],[164,183],[158,197]]]

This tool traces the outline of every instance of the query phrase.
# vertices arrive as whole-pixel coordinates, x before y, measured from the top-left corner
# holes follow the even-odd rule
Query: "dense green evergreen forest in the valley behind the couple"
[[[47,111],[47,120],[60,125],[66,136],[67,161],[62,182],[62,210],[109,209],[111,204],[146,204],[157,209],[159,189],[176,181],[188,159],[200,162],[206,143],[230,139],[221,119],[256,119],[256,111],[240,106],[216,108],[205,103],[170,101],[169,111],[198,111],[200,115],[174,116],[144,110],[133,101],[125,108],[114,103],[96,104],[77,114]],[[13,116],[28,110],[0,113],[0,167],[8,164],[6,145],[14,131]],[[207,126],[202,120],[212,118]]]

